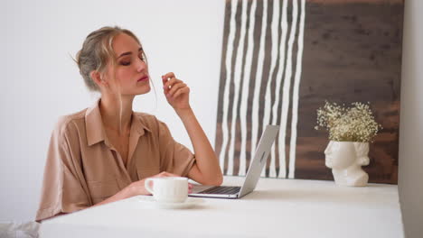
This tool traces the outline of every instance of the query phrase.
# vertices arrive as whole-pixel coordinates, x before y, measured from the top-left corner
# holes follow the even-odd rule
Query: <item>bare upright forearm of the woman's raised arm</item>
[[[198,179],[203,184],[220,185],[222,182],[221,167],[202,126],[198,123],[191,108],[176,110],[176,114],[181,118],[185,129],[193,143],[196,166],[202,179]]]

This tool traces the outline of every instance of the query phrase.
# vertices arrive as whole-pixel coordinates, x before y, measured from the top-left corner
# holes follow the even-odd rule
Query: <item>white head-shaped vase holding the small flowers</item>
[[[368,142],[329,142],[324,150],[325,164],[332,169],[334,181],[341,186],[366,186],[369,175],[362,166],[369,164]]]

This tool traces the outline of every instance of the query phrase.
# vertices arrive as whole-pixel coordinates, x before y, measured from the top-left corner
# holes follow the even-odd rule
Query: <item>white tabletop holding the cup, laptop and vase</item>
[[[190,209],[156,209],[141,198],[48,220],[41,237],[404,237],[395,185],[260,178],[246,197],[207,198]]]

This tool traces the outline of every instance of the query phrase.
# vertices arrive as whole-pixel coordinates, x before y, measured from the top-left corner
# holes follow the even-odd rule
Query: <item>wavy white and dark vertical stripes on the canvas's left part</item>
[[[263,128],[279,124],[262,176],[294,178],[304,26],[305,0],[226,2],[216,136],[225,174],[245,175]]]

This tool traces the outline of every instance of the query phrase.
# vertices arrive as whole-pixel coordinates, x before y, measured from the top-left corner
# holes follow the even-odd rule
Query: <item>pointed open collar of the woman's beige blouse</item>
[[[98,142],[105,142],[110,146],[108,142],[108,137],[104,131],[103,121],[101,120],[101,113],[99,110],[100,99],[96,102],[95,105],[92,105],[85,112],[85,128],[87,130],[87,142],[91,146]],[[143,119],[140,116],[137,116],[136,113],[132,112],[132,122],[131,122],[131,137],[136,135],[136,137],[142,136],[145,134],[145,131],[151,132],[151,130],[143,122]]]

